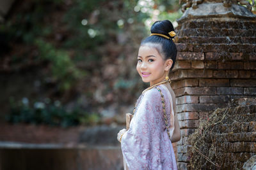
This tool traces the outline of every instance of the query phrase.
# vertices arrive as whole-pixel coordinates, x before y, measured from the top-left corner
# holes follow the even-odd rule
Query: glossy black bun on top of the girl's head
[[[169,32],[174,31],[172,22],[170,22],[170,20],[158,20],[154,22],[154,24],[151,26],[150,31],[152,34],[157,33],[157,34],[164,34],[170,38],[174,37],[168,34]]]

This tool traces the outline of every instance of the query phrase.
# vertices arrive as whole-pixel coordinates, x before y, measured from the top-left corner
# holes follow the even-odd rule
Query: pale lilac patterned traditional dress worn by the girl
[[[163,84],[161,89],[169,122],[170,136],[174,130],[172,96]],[[156,87],[139,97],[130,128],[124,133],[121,148],[129,170],[177,169],[172,142],[164,124],[161,94]],[[168,116],[170,115],[170,117]]]

